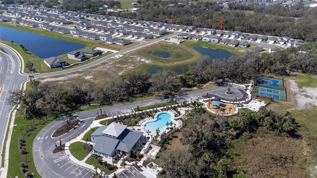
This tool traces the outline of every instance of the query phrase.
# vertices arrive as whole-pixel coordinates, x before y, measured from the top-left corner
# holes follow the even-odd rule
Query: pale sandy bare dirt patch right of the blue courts
[[[317,106],[317,88],[299,88],[293,80],[289,80],[289,84],[291,93],[295,98],[296,107],[293,109],[307,109],[313,105]]]

